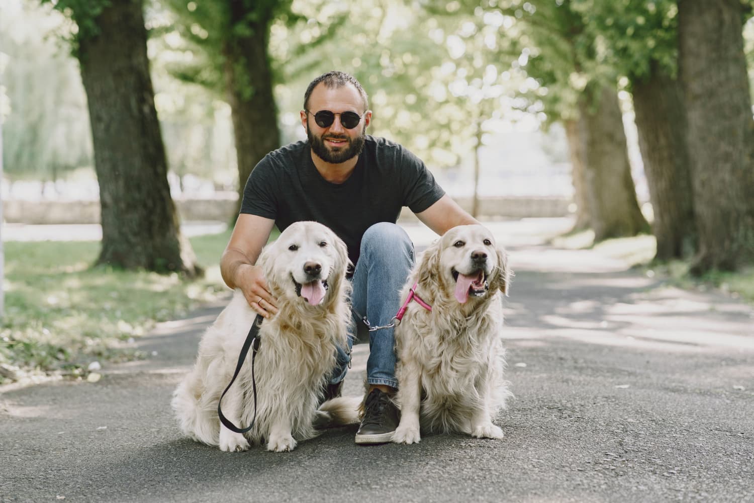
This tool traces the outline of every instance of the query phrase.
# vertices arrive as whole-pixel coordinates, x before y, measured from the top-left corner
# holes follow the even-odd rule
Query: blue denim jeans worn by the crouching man
[[[341,382],[348,371],[357,324],[363,324],[360,316],[366,316],[372,327],[390,324],[400,308],[400,290],[413,265],[414,244],[403,228],[393,223],[380,222],[366,229],[361,238],[359,261],[351,280],[353,309],[348,349],[338,349],[338,363],[330,380],[332,384]],[[392,328],[369,332],[366,382],[370,385],[398,387]]]

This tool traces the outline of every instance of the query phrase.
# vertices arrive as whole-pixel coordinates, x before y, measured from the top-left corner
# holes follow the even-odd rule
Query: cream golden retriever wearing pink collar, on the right
[[[395,329],[396,443],[416,443],[423,431],[503,437],[492,419],[510,396],[503,380],[502,296],[510,272],[503,250],[482,225],[459,225],[425,250],[401,298],[415,293]]]

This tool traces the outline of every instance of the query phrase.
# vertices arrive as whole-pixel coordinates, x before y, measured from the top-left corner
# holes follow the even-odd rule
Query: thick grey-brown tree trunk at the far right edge
[[[754,262],[754,121],[742,22],[740,0],[679,2],[679,80],[699,232],[696,274]]]

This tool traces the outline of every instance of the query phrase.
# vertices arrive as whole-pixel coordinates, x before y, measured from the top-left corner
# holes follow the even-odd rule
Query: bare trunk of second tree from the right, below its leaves
[[[639,149],[654,210],[655,259],[688,258],[696,251],[697,238],[681,87],[657,63],[648,78],[633,79],[632,84]]]

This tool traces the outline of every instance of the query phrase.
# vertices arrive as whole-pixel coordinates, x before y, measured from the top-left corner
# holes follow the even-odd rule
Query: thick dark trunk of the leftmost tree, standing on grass
[[[100,183],[97,262],[201,274],[189,241],[181,236],[167,184],[142,2],[113,0],[95,23],[99,34],[79,41],[78,59]]]

